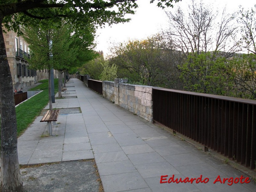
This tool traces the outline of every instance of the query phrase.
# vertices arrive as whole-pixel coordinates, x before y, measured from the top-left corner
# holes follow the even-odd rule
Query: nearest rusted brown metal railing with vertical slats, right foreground
[[[154,88],[153,120],[255,169],[256,100]]]

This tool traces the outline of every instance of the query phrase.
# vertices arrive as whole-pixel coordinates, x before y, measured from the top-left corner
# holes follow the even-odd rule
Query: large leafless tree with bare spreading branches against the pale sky
[[[204,4],[201,0],[198,4],[192,2],[188,11],[178,8],[176,12],[166,12],[170,29],[165,34],[172,38],[176,50],[184,55],[189,52],[200,54],[201,52],[215,51],[215,54],[223,54],[230,57],[239,50],[235,44],[237,25],[234,25],[236,13],[226,14],[225,9],[221,18],[216,19],[218,11],[212,10],[213,5]],[[222,52],[221,52],[222,51]]]

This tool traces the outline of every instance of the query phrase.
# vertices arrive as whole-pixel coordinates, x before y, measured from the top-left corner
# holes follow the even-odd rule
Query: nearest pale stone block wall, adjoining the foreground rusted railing
[[[127,84],[127,80],[103,81],[103,96],[128,111],[153,121],[151,86]]]

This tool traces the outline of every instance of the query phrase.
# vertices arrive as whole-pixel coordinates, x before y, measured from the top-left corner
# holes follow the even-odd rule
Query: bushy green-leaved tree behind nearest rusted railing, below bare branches
[[[215,95],[234,96],[233,65],[213,52],[189,53],[187,61],[179,66],[184,89]]]

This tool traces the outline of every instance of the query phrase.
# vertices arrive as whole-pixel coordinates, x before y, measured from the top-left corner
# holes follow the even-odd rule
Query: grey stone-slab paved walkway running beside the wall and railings
[[[80,107],[82,113],[61,114],[51,137],[44,137],[47,123],[39,122],[42,116],[36,118],[18,139],[20,164],[95,158],[105,192],[256,191],[253,180],[213,184],[216,178],[235,179],[243,173],[117,107],[78,79],[71,79],[67,88],[66,99],[55,100],[53,108]],[[209,181],[160,183],[161,175],[168,175],[163,182],[172,175],[174,180],[202,175]]]

